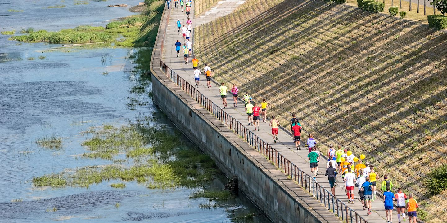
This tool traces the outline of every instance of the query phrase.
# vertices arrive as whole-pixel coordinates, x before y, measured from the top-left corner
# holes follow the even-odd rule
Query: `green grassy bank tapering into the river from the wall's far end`
[[[105,27],[82,25],[74,29],[62,29],[56,32],[32,30],[25,35],[13,36],[10,39],[29,42],[48,41],[49,43],[105,42],[100,46],[153,46],[163,8],[164,1],[153,1],[141,15],[112,21]],[[153,32],[154,30],[155,32]]]

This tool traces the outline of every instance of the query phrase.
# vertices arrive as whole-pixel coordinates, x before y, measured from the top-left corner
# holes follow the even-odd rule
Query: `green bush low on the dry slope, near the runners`
[[[446,20],[447,21],[447,20]],[[447,189],[447,164],[433,169],[424,181],[427,194],[439,194]]]

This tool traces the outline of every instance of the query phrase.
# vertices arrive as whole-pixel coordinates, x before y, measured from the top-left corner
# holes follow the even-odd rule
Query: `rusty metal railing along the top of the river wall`
[[[298,166],[289,161],[286,157],[279,153],[278,150],[272,148],[270,144],[259,138],[254,132],[246,128],[240,121],[233,118],[221,107],[200,93],[197,88],[171,70],[169,66],[161,61],[161,59],[160,69],[169,79],[173,81],[173,83],[177,84],[178,87],[185,91],[186,94],[190,95],[195,101],[200,103],[202,107],[207,109],[213,116],[249,143],[254,149],[257,149],[258,152],[278,167],[278,169],[280,169],[283,173],[286,173],[292,180],[304,187],[304,189],[311,196],[323,204],[329,211],[332,211],[333,214],[340,217],[342,221],[346,223],[367,223],[362,216],[348,207],[345,202],[342,202],[340,199],[333,196],[329,190],[326,190],[319,183],[313,180],[313,176],[310,176],[303,170],[299,169]]]

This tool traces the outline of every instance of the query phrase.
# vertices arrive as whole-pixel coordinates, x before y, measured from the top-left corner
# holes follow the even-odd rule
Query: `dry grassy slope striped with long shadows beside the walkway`
[[[297,113],[321,151],[366,154],[429,215],[447,217],[447,191],[426,195],[423,184],[447,163],[446,33],[323,0],[249,0],[195,33],[218,82],[265,98],[283,126]]]

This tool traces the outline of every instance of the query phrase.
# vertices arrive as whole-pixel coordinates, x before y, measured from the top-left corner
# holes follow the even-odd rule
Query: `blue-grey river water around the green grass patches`
[[[105,25],[133,14],[128,8],[106,5],[135,5],[139,1],[86,2],[89,4],[0,0],[0,31]],[[48,8],[55,5],[65,6]],[[131,88],[139,81],[129,72],[135,67],[129,59],[135,49],[52,50],[61,45],[10,41],[8,37],[0,35],[0,222],[270,222],[243,194],[223,201],[189,198],[197,190],[221,190],[228,180],[219,176],[192,189],[148,189],[136,182],[126,182],[125,189],[110,187],[120,180],[88,188],[33,186],[32,178],[43,174],[111,163],[79,156],[87,151],[81,143],[91,137],[80,132],[89,127],[122,126],[144,116],[157,127],[166,126],[171,131],[174,127],[148,95],[132,93]],[[35,59],[29,60],[31,57]],[[150,88],[149,83],[146,91]],[[136,100],[140,105],[132,105]],[[37,138],[50,135],[62,137],[62,149],[36,145]],[[208,202],[219,206],[199,208]],[[255,216],[238,218],[247,213]]]

